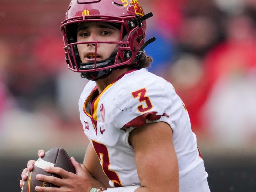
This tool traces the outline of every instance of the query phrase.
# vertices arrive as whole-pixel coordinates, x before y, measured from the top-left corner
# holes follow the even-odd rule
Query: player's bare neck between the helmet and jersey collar
[[[123,73],[127,71],[128,71],[128,68],[115,70],[108,77],[95,81],[99,93],[101,93],[109,84],[111,84],[114,80],[116,80],[119,76],[121,76]]]

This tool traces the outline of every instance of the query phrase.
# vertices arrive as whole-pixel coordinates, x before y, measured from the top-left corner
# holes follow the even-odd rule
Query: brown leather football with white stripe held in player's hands
[[[67,154],[67,152],[59,147],[54,147],[49,151],[45,152],[42,158],[37,159],[36,163],[33,166],[33,170],[31,172],[27,172],[27,180],[23,183],[23,187],[21,188],[21,192],[36,192],[36,186],[43,187],[59,187],[53,185],[52,183],[46,183],[43,181],[39,181],[36,179],[37,174],[43,174],[48,176],[60,177],[60,175],[48,173],[44,171],[45,167],[61,167],[68,172],[72,172],[76,174],[75,168],[73,167],[71,160]]]

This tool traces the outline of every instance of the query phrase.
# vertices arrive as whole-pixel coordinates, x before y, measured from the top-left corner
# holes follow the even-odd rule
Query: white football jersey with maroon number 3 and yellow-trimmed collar
[[[111,186],[140,184],[129,133],[164,121],[173,130],[180,192],[210,191],[188,112],[172,84],[143,68],[125,73],[92,101],[95,94],[96,84],[90,81],[79,100],[80,119]]]

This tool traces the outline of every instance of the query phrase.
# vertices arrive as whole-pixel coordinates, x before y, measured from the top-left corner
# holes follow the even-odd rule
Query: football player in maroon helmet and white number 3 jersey
[[[71,1],[61,29],[68,68],[91,80],[79,100],[90,144],[83,164],[71,158],[77,174],[47,167],[62,179],[36,178],[60,188],[36,191],[210,191],[184,103],[146,69],[152,59],[144,47],[155,40],[145,42],[151,16],[137,0]]]

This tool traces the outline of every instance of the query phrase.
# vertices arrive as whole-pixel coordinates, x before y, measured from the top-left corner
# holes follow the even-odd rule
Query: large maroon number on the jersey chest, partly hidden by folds
[[[115,187],[122,187],[121,181],[117,173],[113,170],[108,169],[108,167],[110,166],[108,148],[102,143],[96,142],[95,140],[92,140],[92,143],[94,150],[101,161],[101,165],[105,175],[107,175],[107,177],[114,183]]]

